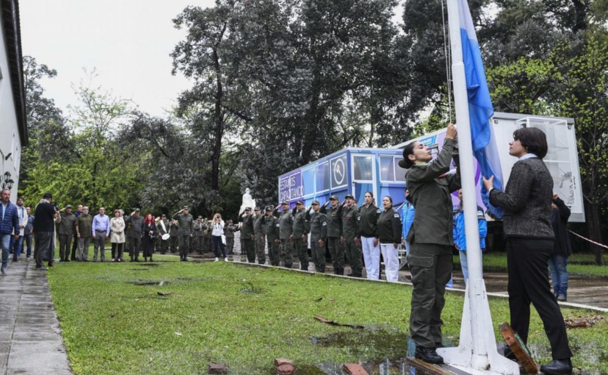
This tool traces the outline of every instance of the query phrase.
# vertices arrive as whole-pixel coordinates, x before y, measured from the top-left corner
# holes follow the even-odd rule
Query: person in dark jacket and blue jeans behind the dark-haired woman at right
[[[558,194],[553,194],[551,203],[551,225],[555,233],[553,253],[549,258],[549,269],[551,270],[551,282],[553,283],[553,295],[558,301],[565,301],[568,294],[568,256],[572,254],[570,236],[568,235],[568,218],[570,208],[559,199]]]

